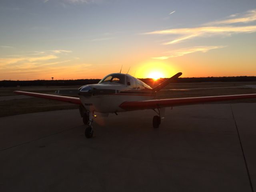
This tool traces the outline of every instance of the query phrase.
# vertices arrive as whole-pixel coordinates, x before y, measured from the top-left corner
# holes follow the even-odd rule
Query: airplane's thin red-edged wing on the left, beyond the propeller
[[[82,104],[79,98],[76,97],[66,97],[66,96],[58,96],[58,95],[49,95],[49,94],[42,94],[42,93],[31,93],[31,92],[24,92],[24,91],[14,91],[16,94],[20,95],[27,95],[32,97],[40,97],[44,99],[52,99],[52,100],[58,100],[58,101],[64,101],[74,104]]]

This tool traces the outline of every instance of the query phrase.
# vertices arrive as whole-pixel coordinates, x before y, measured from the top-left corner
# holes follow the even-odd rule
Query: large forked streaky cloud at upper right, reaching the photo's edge
[[[167,30],[157,30],[147,32],[144,34],[160,34],[160,35],[180,35],[172,41],[163,44],[174,44],[184,40],[192,39],[195,37],[211,37],[216,35],[230,36],[237,33],[252,33],[256,32],[256,25],[251,26],[231,26],[234,23],[248,23],[256,20],[256,10],[247,11],[244,14],[234,14],[230,16],[231,19],[220,20],[204,24],[195,28],[174,28]],[[223,25],[225,24],[225,25]],[[228,24],[228,25],[226,25]]]

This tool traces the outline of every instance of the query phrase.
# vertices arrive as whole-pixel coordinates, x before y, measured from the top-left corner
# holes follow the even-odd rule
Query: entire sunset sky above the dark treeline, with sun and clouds
[[[256,0],[1,0],[0,80],[256,76]]]

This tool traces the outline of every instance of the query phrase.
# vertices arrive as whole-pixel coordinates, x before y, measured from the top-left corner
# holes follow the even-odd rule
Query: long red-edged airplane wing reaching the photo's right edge
[[[124,110],[132,111],[247,98],[256,98],[256,94],[132,101],[123,102],[119,107]]]

